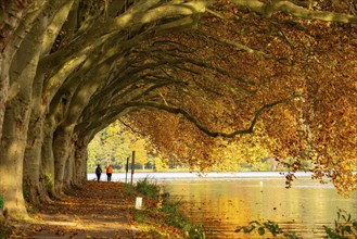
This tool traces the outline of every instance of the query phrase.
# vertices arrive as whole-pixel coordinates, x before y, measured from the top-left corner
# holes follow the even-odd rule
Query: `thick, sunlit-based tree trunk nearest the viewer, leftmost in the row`
[[[0,146],[0,188],[10,217],[26,215],[23,196],[23,164],[30,116],[33,81],[39,60],[43,25],[38,24],[24,39],[10,72],[11,99],[7,102]],[[8,184],[13,181],[9,187]],[[1,190],[2,191],[2,190]],[[27,191],[25,191],[27,194]]]

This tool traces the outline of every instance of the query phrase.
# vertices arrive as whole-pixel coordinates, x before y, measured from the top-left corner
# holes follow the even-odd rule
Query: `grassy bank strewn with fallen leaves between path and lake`
[[[132,193],[136,193],[132,196]],[[189,222],[181,203],[173,200],[164,188],[154,181],[143,179],[135,186],[126,185],[126,197],[142,197],[142,207],[132,209],[131,215],[141,235],[152,238],[204,239],[209,235],[201,224]]]

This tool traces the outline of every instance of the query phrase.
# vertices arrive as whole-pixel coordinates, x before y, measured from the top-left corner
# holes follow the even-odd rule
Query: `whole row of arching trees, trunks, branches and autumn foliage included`
[[[355,190],[356,4],[1,2],[5,215],[84,184],[88,143],[118,118],[202,169],[259,146],[291,172]]]

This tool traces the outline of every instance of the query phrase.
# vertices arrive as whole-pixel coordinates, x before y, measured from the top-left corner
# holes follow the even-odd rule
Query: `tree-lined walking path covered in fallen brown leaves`
[[[34,223],[11,238],[137,238],[130,224],[133,202],[123,197],[124,184],[88,181],[67,198],[36,214]]]

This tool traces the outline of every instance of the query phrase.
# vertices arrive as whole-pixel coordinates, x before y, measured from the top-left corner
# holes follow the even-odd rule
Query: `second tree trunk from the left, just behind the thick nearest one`
[[[47,26],[48,30],[44,35],[41,53],[47,55],[58,33],[62,28],[63,23],[71,10],[73,1],[68,1],[63,8],[60,9],[54,17]],[[56,8],[53,9],[54,11]],[[24,183],[26,188],[29,189],[29,202],[39,206],[41,202],[50,202],[48,192],[52,191],[51,180],[42,172],[41,164],[41,150],[43,143],[43,124],[47,105],[42,102],[44,73],[38,72],[34,83],[33,109],[29,122],[27,148],[25,152],[25,167],[24,167]]]

